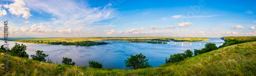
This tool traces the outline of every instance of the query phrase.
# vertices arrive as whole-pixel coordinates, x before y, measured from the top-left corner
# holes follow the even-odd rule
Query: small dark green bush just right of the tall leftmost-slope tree
[[[32,57],[33,60],[37,60],[37,61],[42,61],[42,62],[46,62],[46,57],[48,57],[49,55],[44,54],[42,50],[37,50],[35,51],[36,54],[35,55],[30,55],[30,57]]]

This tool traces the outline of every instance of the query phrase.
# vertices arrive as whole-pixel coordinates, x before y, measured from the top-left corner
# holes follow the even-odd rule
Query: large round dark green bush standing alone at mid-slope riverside
[[[130,58],[124,60],[125,66],[131,67],[131,69],[151,67],[152,65],[149,65],[147,61],[148,59],[146,59],[146,56],[143,56],[141,53],[135,56],[131,55]]]

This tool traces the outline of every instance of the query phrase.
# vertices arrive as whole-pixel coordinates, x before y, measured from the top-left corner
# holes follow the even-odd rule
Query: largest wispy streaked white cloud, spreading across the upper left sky
[[[93,22],[118,15],[116,9],[111,8],[112,4],[103,7],[90,7],[86,1],[70,0],[30,0],[26,3],[30,4],[28,7],[34,11],[50,13],[54,17],[51,20],[56,20],[56,23],[62,23],[65,26],[73,24],[87,26]]]

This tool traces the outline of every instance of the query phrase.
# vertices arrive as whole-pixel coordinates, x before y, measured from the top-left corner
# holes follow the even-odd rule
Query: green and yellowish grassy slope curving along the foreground
[[[84,68],[49,64],[17,57],[9,58],[13,75],[256,75],[256,42],[232,45],[201,54],[184,61],[155,68],[123,70]],[[0,68],[4,57],[0,56]]]

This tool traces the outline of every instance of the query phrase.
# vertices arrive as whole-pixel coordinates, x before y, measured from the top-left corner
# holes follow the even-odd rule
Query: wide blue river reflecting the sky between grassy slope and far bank
[[[208,41],[199,42],[224,42],[220,38],[209,38]],[[153,43],[125,43],[125,42],[112,42],[105,45],[95,46],[75,46],[75,45],[52,45],[52,44],[35,44],[35,43],[23,43],[27,47],[26,52],[29,55],[34,55],[36,50],[43,50],[45,54],[49,54],[49,58],[54,63],[61,64],[63,57],[71,58],[72,61],[78,66],[89,66],[89,61],[97,61],[102,63],[104,68],[117,68],[117,69],[130,69],[125,66],[124,60],[130,57],[130,55],[142,53],[146,56],[148,63],[152,67],[157,67],[165,63],[165,58],[169,58],[170,55],[177,53],[184,53],[186,49],[204,48],[206,43],[170,43],[170,44],[153,44]],[[4,44],[3,40],[0,40],[0,45]],[[9,47],[13,47],[15,42],[9,41]],[[223,43],[216,43],[217,46]],[[31,57],[30,57],[31,58]]]

